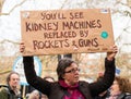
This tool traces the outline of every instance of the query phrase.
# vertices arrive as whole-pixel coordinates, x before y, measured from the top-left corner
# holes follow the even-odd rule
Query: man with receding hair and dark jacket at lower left
[[[20,91],[20,75],[11,72],[7,77],[8,87],[1,89],[0,99],[23,99]]]

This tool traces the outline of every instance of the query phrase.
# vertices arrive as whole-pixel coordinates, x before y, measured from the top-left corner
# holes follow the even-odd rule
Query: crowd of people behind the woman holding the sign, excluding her
[[[104,76],[100,75],[97,81],[102,82],[103,78]],[[55,79],[51,76],[45,76],[43,79],[55,83]],[[5,88],[0,91],[0,99],[49,99],[46,95],[35,88],[32,92],[26,94],[26,97],[22,98],[19,81],[19,74],[16,72],[11,72],[7,77],[8,86],[4,86]],[[93,99],[131,99],[131,82],[127,77],[115,76],[112,85]]]

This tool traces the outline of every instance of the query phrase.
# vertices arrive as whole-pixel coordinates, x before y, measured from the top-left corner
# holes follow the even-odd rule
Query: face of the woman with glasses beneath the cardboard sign
[[[78,67],[78,65],[75,63],[72,63],[64,70],[64,82],[70,86],[76,84],[79,82],[79,72],[80,69]]]

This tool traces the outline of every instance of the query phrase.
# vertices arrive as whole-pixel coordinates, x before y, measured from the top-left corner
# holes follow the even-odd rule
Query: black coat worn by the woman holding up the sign
[[[49,99],[62,99],[62,97],[66,95],[67,89],[61,87],[58,82],[49,83],[38,77],[34,70],[33,57],[24,57],[23,63],[25,76],[29,85],[47,95]],[[105,59],[105,74],[103,81],[91,84],[80,81],[79,90],[83,94],[85,99],[93,99],[92,97],[95,97],[100,92],[107,90],[112,85],[115,78],[115,59],[112,61]]]

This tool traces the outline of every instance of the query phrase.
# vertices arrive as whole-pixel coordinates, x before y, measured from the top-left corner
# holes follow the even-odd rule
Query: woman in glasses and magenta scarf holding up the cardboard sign
[[[24,51],[24,44],[20,46],[20,51]],[[33,57],[23,57],[24,72],[28,84],[47,95],[49,99],[93,99],[100,92],[107,90],[115,78],[115,55],[117,47],[114,46],[111,52],[107,52],[105,59],[105,74],[102,82],[87,83],[79,81],[79,65],[69,58],[59,60],[57,66],[58,82],[49,83],[36,75]],[[29,70],[29,71],[28,71]]]

